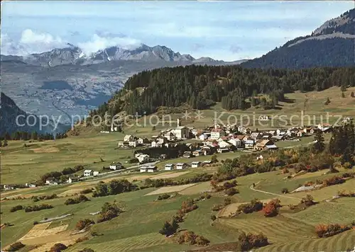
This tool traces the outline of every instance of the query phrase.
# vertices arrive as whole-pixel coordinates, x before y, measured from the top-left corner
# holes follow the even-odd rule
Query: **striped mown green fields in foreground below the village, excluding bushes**
[[[347,171],[349,172],[349,170]],[[196,172],[184,173],[182,171],[181,176],[188,178]],[[341,171],[340,174],[344,172],[346,171]],[[134,183],[139,183],[139,181],[146,178],[144,176],[143,174],[136,175]],[[315,197],[318,204],[294,213],[288,210],[287,205],[297,205],[306,193],[283,195],[280,193],[281,189],[286,186],[290,190],[293,190],[297,188],[297,185],[305,183],[305,181],[324,179],[328,178],[329,175],[322,175],[321,172],[306,173],[302,176],[284,180],[285,176],[287,174],[282,174],[280,171],[272,171],[237,178],[239,193],[231,197],[232,204],[228,206],[229,208],[233,208],[233,205],[237,206],[238,203],[248,202],[253,198],[268,201],[278,197],[283,205],[278,217],[266,218],[263,217],[261,212],[256,212],[253,214],[242,214],[234,218],[219,217],[212,225],[212,214],[219,215],[218,212],[212,211],[212,207],[216,204],[222,204],[225,198],[223,193],[212,193],[212,197],[209,200],[197,202],[198,209],[187,214],[185,221],[180,223],[180,230],[195,231],[196,234],[209,239],[211,244],[235,242],[241,231],[256,233],[261,231],[268,237],[271,244],[265,248],[259,248],[258,250],[260,251],[344,251],[354,246],[354,230],[346,231],[327,239],[319,239],[315,235],[316,224],[347,224],[354,220],[354,198],[342,197],[331,202],[325,201],[337,195],[338,190],[354,190],[354,179],[346,181],[346,183],[341,185],[332,185],[321,190],[307,192]],[[251,185],[253,183],[257,183],[256,190],[262,190],[262,192],[252,190]],[[38,194],[49,195],[51,193],[64,192],[70,190],[73,185],[75,184],[45,188],[45,190],[41,190]],[[80,183],[77,186],[81,188]],[[159,189],[161,193],[163,193],[163,189]],[[77,205],[64,205],[65,200],[70,196],[53,200],[42,200],[36,203],[32,202],[31,199],[2,201],[1,219],[5,219],[6,222],[13,224],[12,227],[1,229],[3,246],[21,239],[21,237],[33,228],[34,221],[57,217],[62,214],[73,214],[65,219],[52,222],[50,227],[48,227],[50,229],[68,224],[67,232],[72,232],[78,220],[82,218],[96,220],[97,216],[92,216],[90,213],[99,211],[104,202],[116,202],[124,212],[109,222],[94,224],[91,231],[97,232],[99,236],[92,237],[87,234],[89,240],[74,244],[67,251],[79,251],[85,247],[92,248],[94,251],[183,251],[198,248],[196,246],[176,244],[172,239],[165,238],[165,236],[159,234],[158,231],[163,226],[163,222],[170,219],[180,209],[183,200],[198,197],[204,190],[209,189],[209,182],[197,183],[191,187],[178,190],[175,192],[177,193],[176,195],[175,193],[169,193],[170,195],[175,195],[175,197],[161,201],[155,201],[158,195],[149,195],[156,190],[155,188],[106,197],[95,198],[88,195],[91,201],[82,202]],[[268,193],[275,193],[276,195]],[[23,196],[25,195],[26,192],[23,193]],[[27,213],[23,212],[23,210],[9,212],[10,208],[15,205],[24,206],[38,203],[53,205],[53,209]],[[234,207],[235,210],[236,207]],[[58,242],[65,239],[66,236],[64,234],[67,233],[58,233]],[[36,242],[40,244],[45,240],[46,236],[42,236],[23,242],[25,244],[27,242],[27,247],[29,247],[29,244],[33,246],[32,244]],[[353,245],[351,246],[351,244]]]

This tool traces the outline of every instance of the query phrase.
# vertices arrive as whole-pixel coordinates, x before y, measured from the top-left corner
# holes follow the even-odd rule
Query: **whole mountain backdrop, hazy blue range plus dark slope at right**
[[[262,57],[235,62],[195,59],[162,45],[144,44],[131,49],[108,47],[85,55],[80,47],[68,43],[65,48],[26,57],[1,55],[1,88],[26,113],[61,116],[61,122],[71,122],[72,115],[86,115],[143,70],[190,64],[263,69],[354,66],[354,27],[355,9],[351,9]]]

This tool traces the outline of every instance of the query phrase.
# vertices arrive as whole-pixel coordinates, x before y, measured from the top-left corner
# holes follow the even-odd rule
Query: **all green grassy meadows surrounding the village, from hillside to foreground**
[[[327,91],[311,92],[311,93],[292,93],[287,97],[293,100],[293,103],[280,103],[278,110],[246,110],[246,111],[231,111],[226,112],[217,104],[210,110],[204,110],[204,118],[201,120],[182,120],[182,125],[193,125],[195,127],[206,127],[213,124],[214,113],[224,112],[222,120],[226,120],[228,115],[241,114],[246,115],[272,115],[276,118],[274,125],[266,125],[262,128],[275,128],[280,125],[280,120],[277,119],[280,115],[294,115],[300,113],[301,110],[306,110],[310,115],[315,115],[316,119],[324,113],[355,115],[355,99],[349,98],[348,94],[355,91],[355,88],[349,88],[346,91],[346,98],[341,98],[339,88],[330,88]],[[339,97],[338,97],[339,94]],[[306,97],[307,96],[307,97]],[[323,105],[325,98],[329,96],[331,103]],[[181,115],[172,115],[172,121],[175,123]],[[245,122],[245,121],[244,121]],[[332,121],[331,121],[332,122]],[[312,123],[314,124],[314,123]],[[175,125],[171,125],[175,127]],[[9,141],[9,146],[1,148],[1,184],[6,183],[26,183],[35,181],[40,175],[48,171],[60,171],[65,167],[72,167],[82,164],[85,168],[90,168],[94,171],[102,171],[102,166],[108,166],[112,161],[128,161],[133,157],[135,149],[115,149],[118,141],[124,137],[124,134],[134,134],[135,136],[152,136],[158,134],[163,128],[168,128],[168,125],[156,126],[155,130],[152,127],[137,127],[133,126],[124,129],[121,133],[100,134],[99,132],[87,128],[82,130],[80,136],[67,137],[66,139],[58,139],[46,142],[26,143],[21,141]],[[251,126],[256,128],[255,126]],[[325,136],[329,139],[329,135]],[[302,138],[300,142],[278,142],[280,148],[292,148],[302,146],[312,142],[313,137]],[[189,140],[193,142],[195,140]],[[219,161],[224,159],[233,159],[243,154],[243,151],[229,152],[218,154]],[[100,158],[104,161],[100,161]],[[198,156],[191,159],[173,159],[163,161],[157,164],[158,168],[163,169],[165,164],[175,164],[178,162],[190,163],[192,161],[204,161],[208,156]],[[68,239],[70,232],[75,230],[75,224],[83,218],[97,219],[97,216],[92,216],[90,213],[97,212],[101,209],[104,202],[117,202],[124,210],[119,217],[112,219],[109,222],[94,224],[91,231],[102,234],[99,236],[89,236],[89,240],[74,244],[67,251],[79,251],[80,248],[93,248],[94,251],[186,251],[187,249],[195,249],[195,246],[178,245],[173,243],[172,239],[165,238],[158,234],[159,229],[163,226],[165,220],[170,219],[175,212],[180,208],[181,202],[188,198],[198,197],[202,192],[210,190],[210,183],[202,182],[186,188],[160,188],[158,193],[164,193],[168,189],[171,195],[175,195],[173,191],[178,192],[175,197],[168,200],[155,201],[158,195],[149,195],[157,188],[147,188],[130,193],[122,193],[120,195],[111,195],[107,197],[90,197],[89,202],[82,202],[77,205],[65,205],[69,195],[80,193],[84,188],[93,188],[99,181],[108,182],[116,178],[126,178],[132,183],[141,184],[146,178],[191,178],[198,173],[214,173],[217,171],[220,164],[214,166],[204,166],[201,168],[189,168],[183,171],[159,171],[154,174],[141,173],[126,173],[113,174],[105,178],[95,178],[89,181],[80,183],[50,186],[44,188],[28,188],[23,190],[12,190],[1,193],[1,197],[18,196],[31,197],[33,195],[50,195],[57,194],[63,197],[53,200],[43,200],[34,203],[30,198],[23,200],[4,200],[1,201],[1,219],[3,222],[13,224],[11,227],[1,229],[2,246],[12,244],[21,237],[28,234],[34,226],[33,222],[40,221],[44,218],[58,217],[62,214],[72,214],[65,219],[53,221],[48,229],[56,227],[62,228],[66,224],[67,230],[62,234],[58,233],[55,236],[41,236],[38,240],[25,240],[27,245],[21,252],[31,251],[33,244],[43,244],[43,241],[58,242],[63,239]],[[354,172],[347,170],[347,172]],[[342,174],[346,171],[340,171]],[[236,178],[238,183],[237,188],[239,193],[232,196],[232,204],[227,206],[229,212],[236,210],[236,207],[244,202],[249,202],[254,198],[268,201],[275,197],[281,200],[283,207],[281,208],[278,217],[266,218],[261,213],[244,214],[236,218],[218,218],[212,224],[211,215],[218,215],[218,212],[212,211],[212,206],[222,204],[224,202],[223,193],[212,193],[209,200],[197,202],[198,209],[187,214],[184,222],[180,224],[180,230],[188,229],[195,231],[209,241],[211,244],[224,244],[237,241],[241,231],[260,232],[263,231],[268,236],[271,245],[265,248],[260,248],[257,251],[345,251],[355,245],[354,230],[346,231],[342,234],[329,237],[327,239],[318,239],[315,236],[315,225],[319,223],[349,223],[354,220],[353,210],[355,209],[354,198],[339,198],[337,200],[327,202],[337,195],[339,190],[354,190],[355,180],[346,181],[340,185],[332,185],[320,190],[310,192],[281,194],[282,188],[288,188],[289,191],[295,190],[299,185],[307,181],[316,181],[317,179],[329,178],[334,174],[323,175],[324,171],[315,173],[306,173],[295,178],[287,178],[288,174],[282,174],[280,171],[272,171],[268,173],[255,173],[249,176]],[[256,183],[256,187],[251,188],[251,185]],[[156,193],[156,192],[155,192]],[[302,210],[300,212],[291,212],[287,205],[296,205],[302,197],[310,194],[318,202],[317,205]],[[41,210],[38,212],[10,212],[11,207],[16,205],[37,205],[50,204],[53,209]],[[223,210],[222,210],[223,211]],[[2,224],[1,223],[1,224]],[[65,240],[67,241],[67,240]],[[31,245],[31,246],[30,246]],[[37,251],[44,248],[38,248]],[[33,251],[33,252],[37,252]]]

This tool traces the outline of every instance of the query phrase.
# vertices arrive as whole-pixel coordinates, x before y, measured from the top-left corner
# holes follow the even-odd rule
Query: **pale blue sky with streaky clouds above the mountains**
[[[1,54],[165,45],[192,57],[261,57],[354,1],[1,1]]]

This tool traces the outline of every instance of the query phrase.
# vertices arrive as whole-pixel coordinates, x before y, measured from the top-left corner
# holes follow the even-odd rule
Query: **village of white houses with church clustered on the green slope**
[[[267,116],[264,116],[268,120]],[[343,121],[349,121],[350,118],[344,118]],[[277,142],[290,141],[298,142],[302,137],[311,137],[317,131],[324,134],[332,132],[333,125],[319,124],[307,127],[290,127],[275,130],[252,130],[250,127],[236,125],[213,125],[206,129],[197,129],[195,127],[187,127],[180,125],[180,120],[176,121],[176,127],[161,130],[160,134],[148,137],[135,137],[132,134],[126,134],[123,139],[118,141],[117,149],[136,149],[134,159],[131,164],[133,166],[126,167],[128,161],[114,161],[108,167],[104,167],[106,171],[94,171],[86,168],[82,171],[82,175],[66,176],[65,179],[48,178],[45,185],[59,185],[61,183],[75,183],[98,176],[106,176],[116,171],[122,172],[140,172],[154,173],[157,171],[173,171],[183,170],[186,168],[197,168],[200,166],[209,166],[212,164],[212,155],[222,154],[226,152],[244,151],[246,153],[256,153],[261,151],[274,151],[278,149]],[[114,130],[112,130],[114,131]],[[158,158],[144,154],[145,149],[151,149],[152,152],[160,152],[165,149],[169,151],[178,145],[185,144],[187,151],[183,151],[179,157],[186,161],[179,161],[165,164],[158,169],[156,164],[160,161],[169,160],[166,154],[159,155]],[[204,161],[189,161],[190,158],[197,156],[206,156]],[[210,156],[210,157],[208,157]],[[263,159],[263,156],[258,156]],[[125,163],[125,164],[122,164]],[[24,187],[36,187],[35,183],[26,183]],[[4,185],[4,190],[13,190],[16,185]]]

